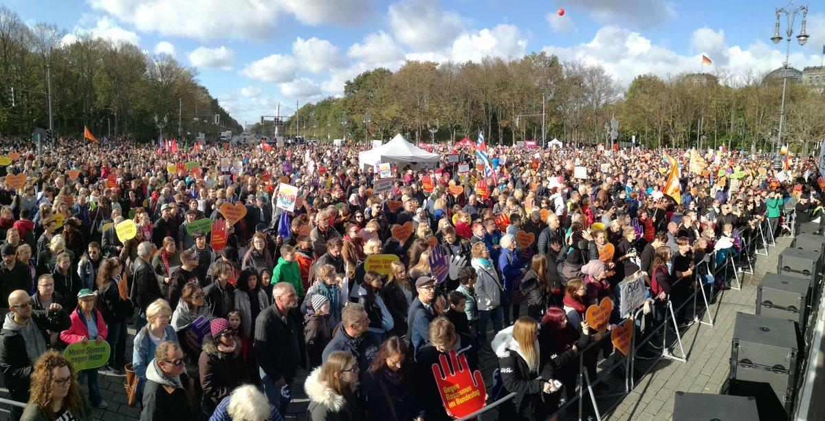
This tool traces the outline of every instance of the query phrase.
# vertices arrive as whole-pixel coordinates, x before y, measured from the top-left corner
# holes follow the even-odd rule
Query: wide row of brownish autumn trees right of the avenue
[[[782,143],[800,151],[823,138],[823,100],[822,87],[788,83]],[[428,127],[437,125],[436,141],[475,139],[482,130],[488,143],[512,144],[541,138],[544,105],[548,139],[604,143],[605,124],[615,117],[622,143],[635,137],[648,147],[770,150],[780,101],[781,79],[764,82],[752,73],[642,75],[623,92],[599,65],[533,53],[481,63],[408,61],[396,72],[376,68],[348,81],[344,96],[305,104],[297,115],[299,132],[320,139],[344,138],[346,129],[359,142],[394,133],[428,142]],[[286,126],[295,133],[294,118]]]

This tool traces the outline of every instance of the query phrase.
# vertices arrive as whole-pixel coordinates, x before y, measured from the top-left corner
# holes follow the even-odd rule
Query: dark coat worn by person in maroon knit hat
[[[198,359],[200,388],[204,391],[203,408],[214,411],[224,397],[238,386],[250,383],[246,362],[241,357],[241,339],[235,338],[235,349],[224,353],[218,349],[217,339],[204,336],[203,351]]]

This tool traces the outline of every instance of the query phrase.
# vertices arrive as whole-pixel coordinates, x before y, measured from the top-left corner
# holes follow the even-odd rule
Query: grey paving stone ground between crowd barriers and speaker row
[[[601,413],[604,419],[610,420],[664,420],[672,419],[674,393],[676,391],[719,393],[724,381],[728,377],[728,358],[730,356],[731,339],[733,335],[733,320],[736,312],[753,313],[756,302],[756,286],[765,272],[775,272],[779,251],[790,246],[790,238],[783,237],[771,247],[768,256],[757,256],[753,275],[745,275],[741,291],[728,290],[721,292],[710,311],[714,315],[714,326],[691,325],[682,337],[685,351],[688,353],[686,363],[662,358],[650,372],[636,382],[635,388],[624,395],[624,380],[619,376],[607,376],[603,381],[607,386],[604,395],[599,397]],[[523,306],[524,307],[524,306]],[[526,308],[522,308],[524,313]],[[705,317],[705,320],[707,318]],[[492,329],[492,327],[491,327]],[[132,353],[131,342],[134,339],[134,330],[129,330],[127,359]],[[492,332],[489,332],[492,337]],[[678,353],[676,351],[676,353]],[[493,369],[497,367],[497,360],[493,354],[479,355],[481,370],[487,386],[492,386]],[[600,367],[610,363],[608,358]],[[646,369],[639,363],[640,370]],[[601,370],[601,368],[600,368]],[[293,395],[295,399],[290,405],[285,419],[304,421],[306,407],[309,403],[304,394],[303,384],[306,372],[299,372],[295,380]],[[106,421],[134,420],[139,418],[139,409],[126,405],[123,388],[124,377],[115,376],[110,372],[100,372],[99,383],[101,394],[109,404],[107,409],[95,409],[94,419]],[[83,388],[84,392],[86,391]],[[618,396],[608,396],[618,394]],[[0,387],[0,398],[8,398],[8,391]],[[618,405],[612,405],[617,403]],[[615,406],[606,411],[603,406]],[[0,419],[7,419],[8,406],[0,405]],[[497,419],[497,412],[490,411],[480,417],[483,420]],[[563,413],[559,419],[575,419],[572,414]]]

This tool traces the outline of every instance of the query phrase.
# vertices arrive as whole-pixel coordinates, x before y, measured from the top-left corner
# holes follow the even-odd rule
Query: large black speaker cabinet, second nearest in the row
[[[730,380],[767,383],[790,414],[799,371],[799,339],[794,322],[738,312],[732,345]]]

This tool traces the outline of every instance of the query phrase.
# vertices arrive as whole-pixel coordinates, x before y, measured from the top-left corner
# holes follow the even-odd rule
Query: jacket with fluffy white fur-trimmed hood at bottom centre
[[[309,373],[304,391],[309,397],[307,419],[312,421],[351,421],[361,419],[355,399],[347,400],[321,381],[321,367]]]

